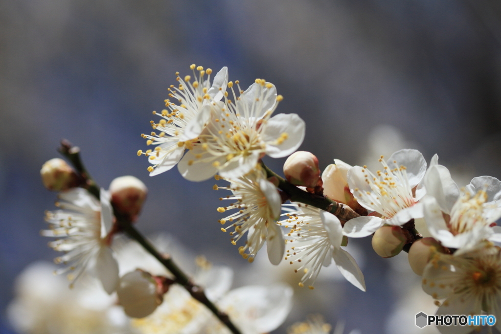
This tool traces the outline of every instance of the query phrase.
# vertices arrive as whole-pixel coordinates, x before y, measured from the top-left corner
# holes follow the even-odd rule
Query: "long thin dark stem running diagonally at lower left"
[[[81,177],[81,186],[87,189],[97,199],[99,199],[99,185],[92,179],[90,174],[85,169],[85,166],[80,158],[80,148],[73,146],[69,141],[63,139],[61,147],[58,151],[65,156],[73,164],[77,174]],[[131,239],[136,240],[144,249],[153,255],[162,265],[169,270],[175,277],[175,282],[182,285],[193,298],[207,306],[208,309],[222,322],[233,334],[241,334],[238,328],[231,322],[229,316],[220,311],[214,303],[212,303],[203,289],[194,284],[191,279],[177,266],[169,255],[161,254],[133,225],[127,215],[120,214],[119,210],[114,208],[115,217],[117,219],[115,228],[124,231]]]

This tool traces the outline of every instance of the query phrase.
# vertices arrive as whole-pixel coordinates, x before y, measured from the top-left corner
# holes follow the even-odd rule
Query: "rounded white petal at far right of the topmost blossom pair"
[[[277,139],[287,134],[281,144]],[[282,158],[294,153],[305,138],[305,121],[296,114],[278,114],[268,120],[262,133],[266,142],[266,154],[272,158]]]

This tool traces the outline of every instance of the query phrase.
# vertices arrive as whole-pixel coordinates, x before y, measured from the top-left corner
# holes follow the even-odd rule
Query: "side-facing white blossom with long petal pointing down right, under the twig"
[[[288,219],[280,224],[291,230],[287,234],[289,242],[298,243],[288,251],[291,264],[295,261],[302,265],[296,269],[303,271],[301,284],[308,283],[310,288],[320,273],[322,266],[328,266],[331,258],[343,276],[353,285],[365,291],[365,280],[357,262],[346,250],[343,243],[341,221],[335,215],[321,209],[297,204],[298,211],[288,213]]]

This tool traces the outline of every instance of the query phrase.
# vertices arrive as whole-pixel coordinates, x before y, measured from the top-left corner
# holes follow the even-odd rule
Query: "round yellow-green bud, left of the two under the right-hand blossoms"
[[[407,237],[400,226],[381,226],[372,237],[372,248],[381,257],[397,255],[406,243]]]

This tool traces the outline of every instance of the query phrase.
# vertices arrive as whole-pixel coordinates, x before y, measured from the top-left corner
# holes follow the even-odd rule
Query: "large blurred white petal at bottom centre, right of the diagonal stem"
[[[292,296],[293,289],[283,283],[249,285],[231,290],[219,306],[240,315],[235,322],[244,333],[267,333],[284,322],[292,307]]]

